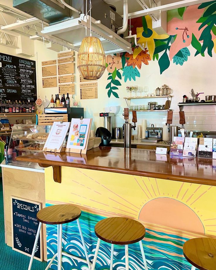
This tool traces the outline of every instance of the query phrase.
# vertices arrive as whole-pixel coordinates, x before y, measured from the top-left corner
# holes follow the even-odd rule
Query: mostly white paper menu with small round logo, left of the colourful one
[[[49,133],[49,136],[45,142],[43,150],[61,150],[65,137],[67,135],[68,128],[70,126],[69,122],[54,122]]]

